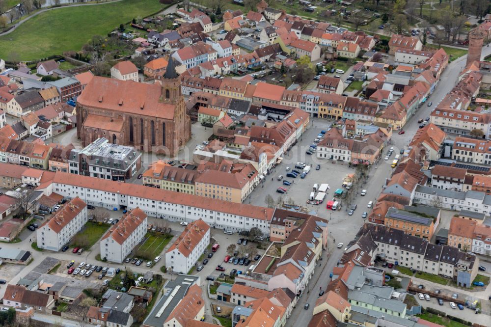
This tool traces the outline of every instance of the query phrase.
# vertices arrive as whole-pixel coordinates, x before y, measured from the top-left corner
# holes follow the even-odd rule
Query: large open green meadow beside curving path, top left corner
[[[122,0],[50,10],[1,36],[0,58],[33,60],[64,51],[78,51],[92,36],[106,36],[119,24],[145,17],[161,8],[158,0]]]

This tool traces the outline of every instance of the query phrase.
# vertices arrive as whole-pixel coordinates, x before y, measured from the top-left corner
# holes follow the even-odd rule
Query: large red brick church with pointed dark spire
[[[159,83],[94,77],[77,99],[77,136],[86,146],[99,137],[140,151],[174,156],[191,137],[173,60]]]

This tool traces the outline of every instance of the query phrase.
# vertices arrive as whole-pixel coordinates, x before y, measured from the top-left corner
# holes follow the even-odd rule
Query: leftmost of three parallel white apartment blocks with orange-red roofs
[[[46,250],[59,251],[82,229],[86,222],[87,205],[81,198],[75,197],[65,203],[53,217],[37,229],[37,246]]]

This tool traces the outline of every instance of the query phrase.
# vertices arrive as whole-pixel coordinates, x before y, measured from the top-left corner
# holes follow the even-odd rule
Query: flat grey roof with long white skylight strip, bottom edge
[[[168,280],[164,285],[164,294],[160,298],[159,302],[154,305],[153,310],[147,316],[143,325],[145,326],[153,326],[153,327],[162,327],[164,325],[167,317],[172,313],[176,305],[184,298],[184,296],[188,293],[188,289],[192,284],[197,283],[199,281],[199,276],[193,275],[185,275],[179,274],[176,276],[174,280]],[[176,287],[180,286],[179,289],[173,297],[171,298],[171,294],[176,290]],[[164,303],[168,300],[169,303],[164,307]],[[161,312],[162,311],[162,312]]]

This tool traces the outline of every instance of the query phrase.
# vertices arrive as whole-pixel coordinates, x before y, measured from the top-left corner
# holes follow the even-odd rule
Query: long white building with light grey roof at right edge
[[[459,192],[418,185],[412,202],[449,210],[491,213],[491,195],[479,191]]]

